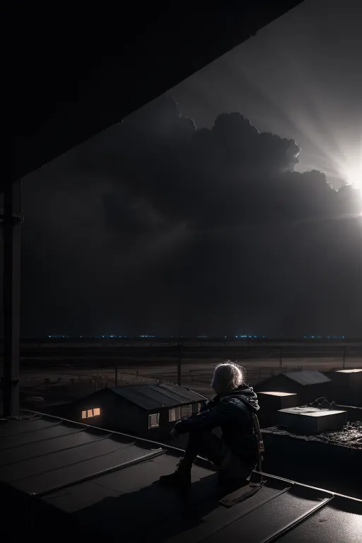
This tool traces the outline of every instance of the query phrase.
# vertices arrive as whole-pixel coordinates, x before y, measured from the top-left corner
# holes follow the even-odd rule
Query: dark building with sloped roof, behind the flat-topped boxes
[[[255,392],[289,392],[298,395],[300,405],[319,397],[332,401],[332,381],[317,370],[282,372],[255,385]]]

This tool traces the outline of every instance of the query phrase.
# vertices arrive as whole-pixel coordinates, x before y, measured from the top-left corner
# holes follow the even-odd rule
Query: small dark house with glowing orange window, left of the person
[[[144,383],[103,388],[64,405],[61,416],[158,440],[170,436],[177,420],[197,414],[205,399],[197,392],[172,383]]]

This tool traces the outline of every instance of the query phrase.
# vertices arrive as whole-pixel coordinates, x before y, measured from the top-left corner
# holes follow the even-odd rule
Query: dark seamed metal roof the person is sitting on
[[[159,486],[181,454],[159,443],[35,413],[1,421],[0,436],[5,531],[13,530],[16,508],[22,519],[17,533],[27,529],[32,511],[35,532],[41,527],[69,535],[71,526],[72,533],[102,535],[103,541],[119,541],[121,534],[124,543],[262,543],[271,537],[327,543],[332,534],[340,541],[361,539],[362,501],[322,489],[266,475],[254,496],[226,508],[220,503],[225,491],[202,459],[188,492]]]

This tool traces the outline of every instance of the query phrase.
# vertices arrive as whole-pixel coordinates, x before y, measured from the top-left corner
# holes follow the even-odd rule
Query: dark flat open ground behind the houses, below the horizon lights
[[[192,388],[206,397],[212,395],[210,387],[212,374],[217,363],[225,358],[183,359],[181,384]],[[313,369],[328,371],[341,369],[342,359],[338,357],[286,358],[280,364],[275,358],[251,358],[241,361],[247,371],[247,381],[255,385],[259,380],[281,371]],[[177,383],[177,359],[139,358],[122,361],[95,360],[72,361],[66,359],[42,361],[39,368],[32,363],[31,369],[24,364],[21,368],[21,391],[23,395],[47,397],[47,402],[70,401],[82,397],[101,387],[132,385],[151,380],[168,380]],[[362,368],[362,356],[349,357],[345,368]]]

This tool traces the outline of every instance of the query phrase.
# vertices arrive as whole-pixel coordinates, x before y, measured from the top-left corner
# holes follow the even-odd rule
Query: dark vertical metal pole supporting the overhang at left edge
[[[4,415],[19,414],[21,181],[4,188]]]

